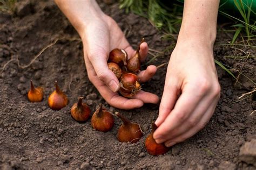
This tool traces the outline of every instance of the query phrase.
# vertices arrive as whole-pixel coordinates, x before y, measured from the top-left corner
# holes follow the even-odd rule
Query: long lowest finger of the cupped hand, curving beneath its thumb
[[[104,82],[98,79],[97,74],[94,72],[91,63],[89,60],[87,60],[87,58],[85,58],[85,65],[90,81],[97,88],[100,95],[102,95],[107,103],[119,109],[134,109],[143,106],[143,102],[141,100],[129,100],[125,97],[119,96],[118,93],[114,93],[112,90],[110,90]]]

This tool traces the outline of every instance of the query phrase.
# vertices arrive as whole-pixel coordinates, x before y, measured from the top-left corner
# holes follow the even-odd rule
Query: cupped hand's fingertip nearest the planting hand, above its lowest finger
[[[157,104],[159,102],[159,97],[155,94],[140,90],[138,94],[132,96],[132,98],[137,98],[143,103],[153,103]]]

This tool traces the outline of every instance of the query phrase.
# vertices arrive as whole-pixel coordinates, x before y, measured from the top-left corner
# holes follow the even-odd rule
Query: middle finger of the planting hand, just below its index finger
[[[164,141],[171,140],[180,136],[181,134],[187,132],[192,129],[194,126],[200,122],[201,118],[205,115],[205,113],[215,107],[218,99],[213,100],[212,97],[205,96],[202,98],[201,102],[197,106],[197,108],[192,112],[191,116],[189,116],[182,124],[182,126],[178,126],[176,129],[173,129],[167,136],[164,137]]]

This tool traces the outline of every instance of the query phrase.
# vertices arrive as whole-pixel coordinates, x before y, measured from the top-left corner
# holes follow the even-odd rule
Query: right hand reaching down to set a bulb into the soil
[[[167,68],[163,97],[153,137],[167,147],[203,129],[220,97],[212,46],[182,41],[174,48]]]

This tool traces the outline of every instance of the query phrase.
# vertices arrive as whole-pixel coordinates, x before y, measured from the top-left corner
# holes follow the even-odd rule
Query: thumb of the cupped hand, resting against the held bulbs
[[[116,75],[114,75],[107,66],[107,53],[91,53],[88,58],[99,79],[103,81],[113,92],[117,92],[119,90],[119,81]]]

